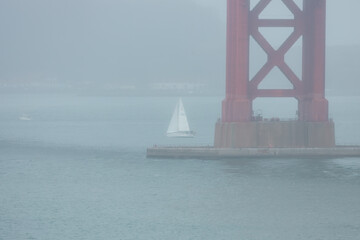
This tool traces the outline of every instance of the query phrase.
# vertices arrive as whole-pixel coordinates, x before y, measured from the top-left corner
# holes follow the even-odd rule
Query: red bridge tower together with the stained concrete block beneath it
[[[260,19],[272,0],[260,0],[250,10],[250,0],[227,0],[226,97],[222,118],[216,123],[215,147],[333,147],[334,124],[328,119],[325,99],[326,0],[281,0],[293,19]],[[260,27],[292,27],[294,31],[275,50]],[[250,36],[268,56],[265,65],[249,79]],[[285,62],[285,54],[303,38],[302,78]],[[278,67],[293,89],[259,89],[259,84]],[[298,100],[295,121],[262,121],[253,116],[258,97],[293,97]]]

